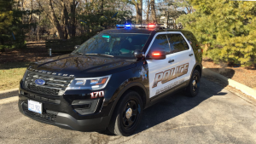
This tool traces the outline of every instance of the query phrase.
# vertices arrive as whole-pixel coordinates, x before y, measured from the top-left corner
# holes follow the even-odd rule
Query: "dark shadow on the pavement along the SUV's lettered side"
[[[200,92],[195,97],[189,97],[183,92],[178,92],[177,94],[167,96],[163,101],[145,109],[143,111],[142,122],[136,133],[148,130],[157,124],[161,124],[183,114],[184,112],[188,112],[212,96],[227,95],[227,93],[221,92],[225,86],[226,85],[220,86],[206,78],[201,78]],[[170,128],[172,129],[174,127],[178,127],[178,125],[165,124],[163,127],[161,126],[160,129],[170,130]]]

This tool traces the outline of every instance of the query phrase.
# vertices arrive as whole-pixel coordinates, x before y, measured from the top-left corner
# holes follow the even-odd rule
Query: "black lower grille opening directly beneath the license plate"
[[[54,123],[55,122],[55,118],[57,117],[57,112],[52,112],[52,113],[47,113],[47,112],[43,112],[43,114],[37,113],[37,112],[32,112],[29,111],[27,108],[27,104],[23,103],[22,104],[22,108],[23,111],[25,112],[25,114],[29,117],[32,118],[36,118],[39,120],[43,120],[45,122],[49,122],[49,123]]]

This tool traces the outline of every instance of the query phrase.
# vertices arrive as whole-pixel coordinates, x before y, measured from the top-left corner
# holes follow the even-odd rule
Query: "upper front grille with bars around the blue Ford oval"
[[[44,79],[45,84],[35,84],[36,79]],[[70,84],[72,80],[73,78],[69,77],[28,71],[26,75],[26,80],[24,82],[24,87],[25,89],[38,94],[60,96],[63,95],[64,90],[67,88],[67,85]]]

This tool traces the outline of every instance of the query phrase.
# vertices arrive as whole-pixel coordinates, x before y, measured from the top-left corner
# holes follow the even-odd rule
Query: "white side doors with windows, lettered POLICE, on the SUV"
[[[157,33],[146,55],[151,55],[152,52],[158,50],[166,51],[166,59],[147,60],[150,98],[183,84],[189,79],[190,72],[195,65],[193,49],[181,32]]]

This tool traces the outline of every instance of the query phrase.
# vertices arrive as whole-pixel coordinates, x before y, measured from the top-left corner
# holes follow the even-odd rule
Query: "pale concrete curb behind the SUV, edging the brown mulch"
[[[222,82],[224,82],[224,84],[228,84],[236,89],[241,90],[241,92],[250,95],[253,99],[256,100],[256,90],[252,89],[244,84],[240,84],[230,78],[226,78],[221,74],[218,74],[217,72],[213,72],[212,70],[207,69],[206,67],[203,67],[202,69],[202,74],[204,76],[212,76],[214,78],[218,78],[219,80],[221,80]]]

